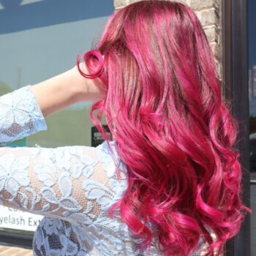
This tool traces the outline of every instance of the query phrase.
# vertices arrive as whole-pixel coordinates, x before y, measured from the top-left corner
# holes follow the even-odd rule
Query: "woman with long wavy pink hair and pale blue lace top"
[[[237,122],[194,12],[140,1],[113,14],[78,69],[0,98],[1,142],[80,101],[95,102],[102,145],[0,150],[1,203],[45,216],[34,255],[220,255],[249,209]]]

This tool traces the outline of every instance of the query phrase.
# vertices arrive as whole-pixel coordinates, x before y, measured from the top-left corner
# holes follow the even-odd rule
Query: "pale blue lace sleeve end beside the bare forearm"
[[[26,86],[0,97],[0,143],[7,143],[47,129],[45,118]]]

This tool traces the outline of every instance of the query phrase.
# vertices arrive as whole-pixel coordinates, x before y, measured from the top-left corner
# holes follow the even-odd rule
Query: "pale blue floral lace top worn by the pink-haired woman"
[[[0,97],[0,143],[45,129],[30,86]],[[97,148],[0,148],[0,203],[45,216],[34,234],[34,255],[144,255],[118,214],[107,214],[127,187],[114,141],[110,147],[121,180],[108,143]],[[159,256],[155,244],[150,255]]]

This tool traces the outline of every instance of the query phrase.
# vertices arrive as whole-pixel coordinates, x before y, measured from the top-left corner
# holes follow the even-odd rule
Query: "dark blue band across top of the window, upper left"
[[[0,0],[0,34],[108,16],[113,0]]]

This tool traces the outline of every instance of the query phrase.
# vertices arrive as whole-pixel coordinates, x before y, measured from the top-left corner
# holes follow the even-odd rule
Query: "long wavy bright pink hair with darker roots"
[[[129,185],[114,206],[121,219],[143,238],[143,249],[154,226],[165,255],[189,255],[200,240],[206,255],[219,255],[246,208],[233,148],[237,122],[222,102],[195,13],[173,1],[130,4],[110,17],[84,58],[91,75],[83,75],[99,76],[106,91],[91,118],[105,136],[105,113],[127,165]]]

